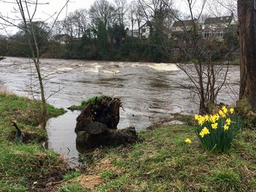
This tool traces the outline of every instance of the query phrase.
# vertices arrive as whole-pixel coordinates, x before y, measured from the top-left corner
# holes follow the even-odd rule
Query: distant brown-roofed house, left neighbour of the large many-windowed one
[[[197,22],[197,20],[176,20],[172,26],[172,34],[177,34],[191,30],[194,26],[193,22],[195,22],[197,28],[200,28],[200,25]]]

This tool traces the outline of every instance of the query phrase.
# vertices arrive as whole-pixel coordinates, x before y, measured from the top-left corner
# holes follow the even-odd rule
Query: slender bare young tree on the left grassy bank
[[[66,4],[64,7],[67,6],[69,0],[66,1]],[[35,28],[35,15],[39,6],[38,1],[31,1],[31,0],[15,0],[15,1],[2,1],[3,3],[10,3],[15,6],[15,13],[18,18],[9,18],[8,16],[0,15],[1,24],[4,26],[15,26],[18,27],[21,31],[24,32],[26,37],[27,45],[29,45],[30,50],[30,58],[34,62],[34,66],[37,71],[37,77],[39,80],[39,90],[41,94],[41,101],[42,101],[42,115],[41,115],[41,123],[42,127],[45,127],[46,120],[48,116],[47,111],[47,104],[46,100],[47,97],[45,96],[45,89],[44,89],[44,82],[43,77],[40,72],[40,49],[39,49],[39,42],[42,42],[45,37],[42,37],[42,39],[37,39],[36,36],[36,28]],[[64,9],[64,7],[61,9],[61,11]],[[60,11],[60,12],[61,12]],[[60,14],[59,12],[59,14]],[[57,14],[54,23],[56,22],[57,18],[59,17],[59,14]],[[18,24],[15,23],[15,21],[21,21],[23,23],[23,26],[20,27]],[[53,26],[48,30],[48,33],[50,34],[51,29]]]

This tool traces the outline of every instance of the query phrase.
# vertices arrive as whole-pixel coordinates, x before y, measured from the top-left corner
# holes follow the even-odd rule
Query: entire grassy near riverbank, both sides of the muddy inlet
[[[38,101],[0,93],[1,191],[254,191],[255,131],[244,129],[230,154],[206,153],[195,127],[153,126],[140,132],[142,142],[97,149],[80,155],[83,166],[67,163],[42,147],[46,131],[38,128]],[[63,114],[48,106],[50,117]],[[22,131],[37,135],[23,144],[12,137],[16,120]],[[191,118],[177,118],[192,124]],[[191,139],[187,144],[185,139]]]

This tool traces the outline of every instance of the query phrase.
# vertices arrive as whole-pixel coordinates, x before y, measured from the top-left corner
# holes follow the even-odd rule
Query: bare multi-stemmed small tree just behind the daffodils
[[[214,37],[203,39],[200,33],[198,20],[206,7],[206,0],[200,4],[200,9],[194,10],[197,1],[187,0],[187,6],[190,13],[190,20],[186,23],[177,17],[175,12],[173,16],[181,23],[182,33],[176,38],[180,53],[184,53],[187,59],[192,60],[193,64],[178,64],[178,67],[187,74],[191,85],[184,85],[190,91],[197,94],[200,101],[200,113],[211,112],[211,105],[217,102],[219,91],[225,85],[229,66],[216,66],[212,60],[213,55],[219,50],[220,43]],[[195,18],[197,15],[197,18]],[[230,51],[229,51],[230,53]],[[230,54],[228,54],[230,55]]]

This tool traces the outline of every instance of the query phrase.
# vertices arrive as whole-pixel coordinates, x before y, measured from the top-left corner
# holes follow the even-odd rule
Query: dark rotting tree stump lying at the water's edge
[[[77,118],[77,148],[126,145],[138,140],[134,127],[117,129],[121,101],[104,97],[87,104]]]

